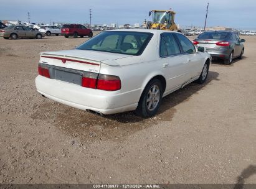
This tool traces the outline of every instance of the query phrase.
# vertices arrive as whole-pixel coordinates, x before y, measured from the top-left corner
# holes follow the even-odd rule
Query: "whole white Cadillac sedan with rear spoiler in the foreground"
[[[211,56],[183,34],[164,30],[111,30],[73,50],[40,53],[37,91],[99,114],[135,110],[156,114],[161,99],[206,81]]]

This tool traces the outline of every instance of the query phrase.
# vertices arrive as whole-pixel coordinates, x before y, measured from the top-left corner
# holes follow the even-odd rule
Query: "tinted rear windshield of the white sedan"
[[[141,55],[152,36],[146,32],[102,32],[77,49]]]

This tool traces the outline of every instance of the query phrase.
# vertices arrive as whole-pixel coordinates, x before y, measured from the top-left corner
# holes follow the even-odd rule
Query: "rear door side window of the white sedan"
[[[160,42],[160,56],[178,55],[181,53],[173,34],[162,34]]]

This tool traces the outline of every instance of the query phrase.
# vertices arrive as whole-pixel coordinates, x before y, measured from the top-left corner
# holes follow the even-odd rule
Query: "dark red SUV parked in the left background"
[[[73,36],[74,38],[77,38],[78,36],[93,36],[92,30],[81,24],[65,24],[61,29],[61,34],[64,35],[66,38],[68,38],[69,36]]]

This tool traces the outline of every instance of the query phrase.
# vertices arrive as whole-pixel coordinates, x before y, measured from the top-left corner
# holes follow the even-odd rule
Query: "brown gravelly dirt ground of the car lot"
[[[149,119],[37,93],[39,52],[88,38],[0,39],[0,183],[256,183],[256,36],[242,38],[242,60],[214,61]]]

